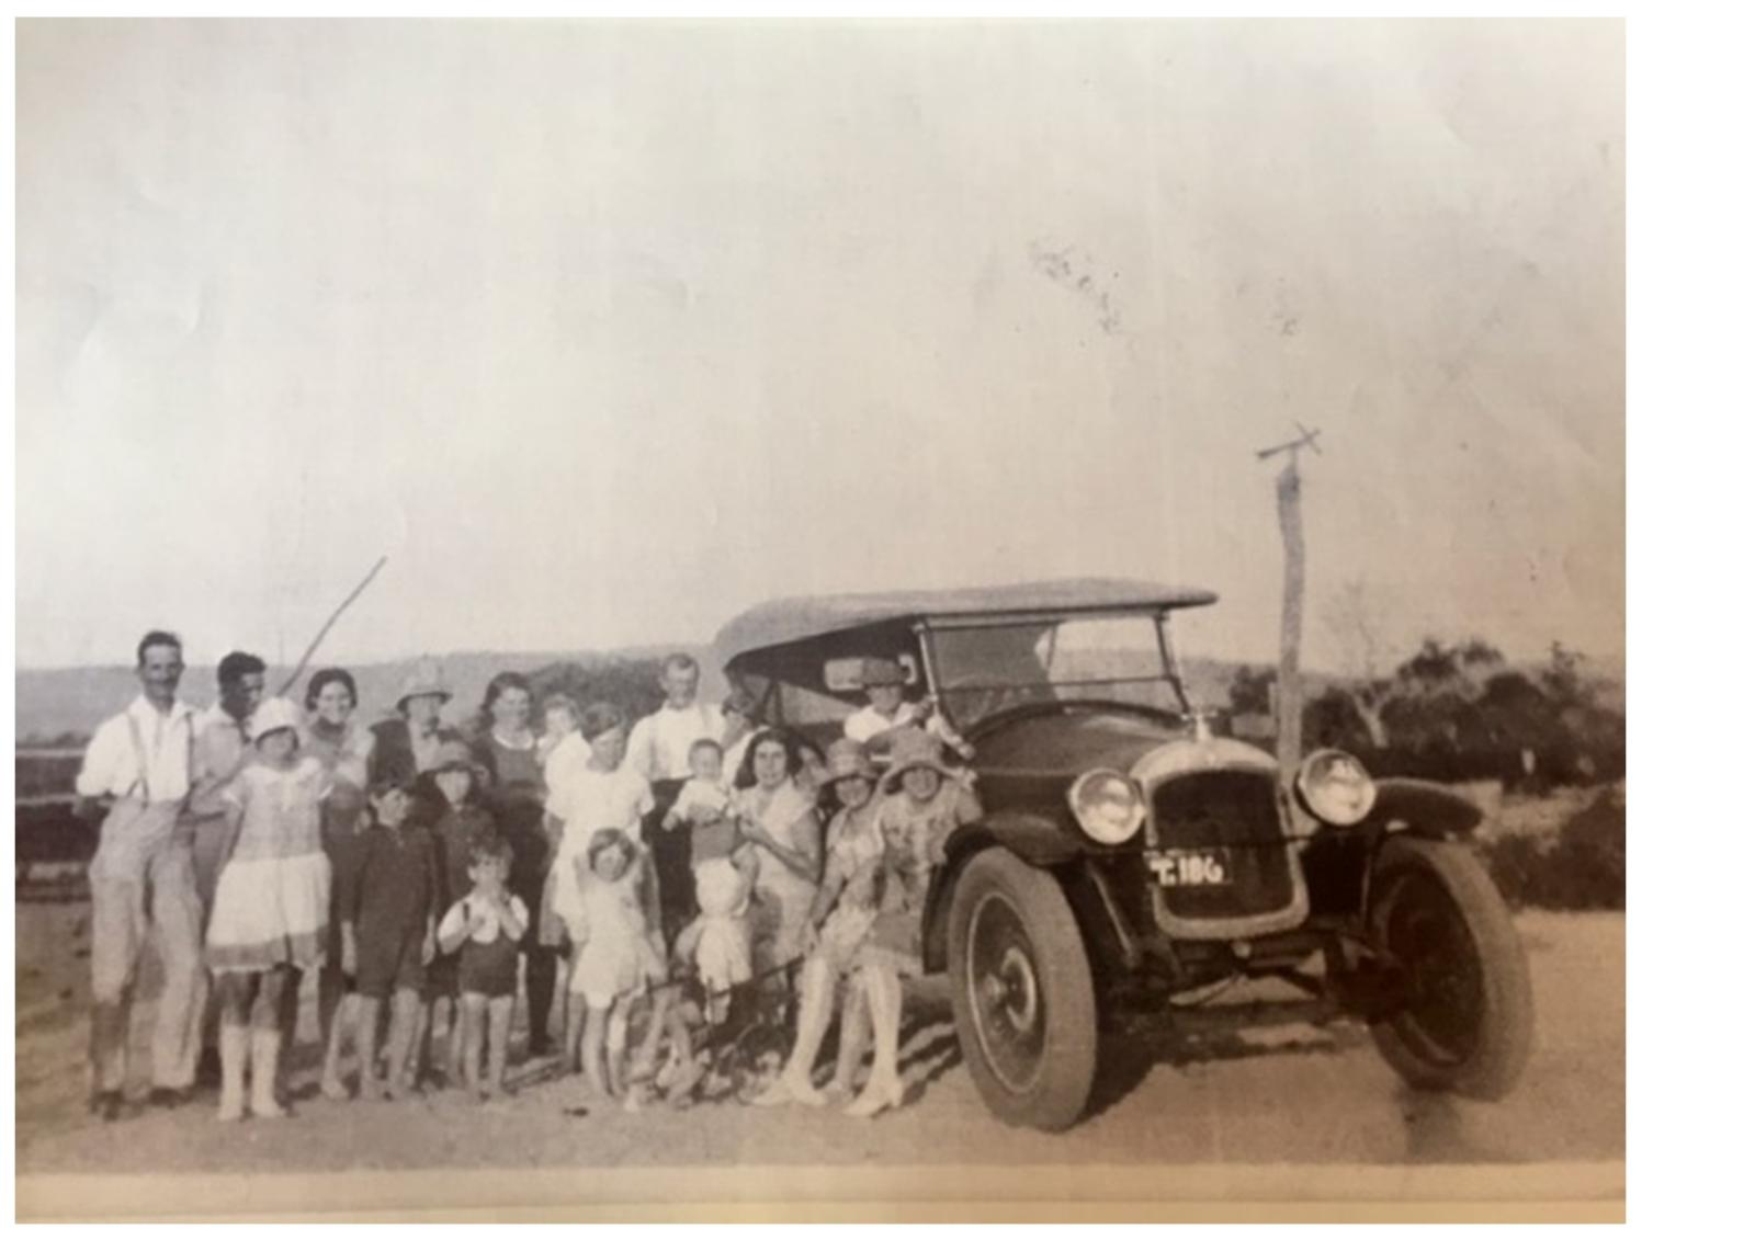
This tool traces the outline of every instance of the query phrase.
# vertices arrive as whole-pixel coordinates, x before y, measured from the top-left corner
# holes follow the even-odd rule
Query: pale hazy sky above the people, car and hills
[[[1121,574],[1618,656],[1618,23],[21,23],[18,661]]]

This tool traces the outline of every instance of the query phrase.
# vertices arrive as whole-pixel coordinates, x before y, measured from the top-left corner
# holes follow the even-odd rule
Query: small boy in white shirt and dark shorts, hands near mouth
[[[463,1082],[470,1096],[505,1096],[505,1044],[518,996],[518,940],[530,928],[530,909],[507,891],[512,845],[498,835],[479,837],[469,852],[467,896],[439,923],[439,947],[456,958],[463,1028]],[[486,1026],[488,1082],[481,1082]]]

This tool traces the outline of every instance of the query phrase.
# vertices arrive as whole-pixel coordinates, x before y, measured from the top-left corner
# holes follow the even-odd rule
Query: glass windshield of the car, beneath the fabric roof
[[[1167,617],[1065,616],[930,626],[939,700],[960,726],[1030,702],[1130,702],[1186,712]]]

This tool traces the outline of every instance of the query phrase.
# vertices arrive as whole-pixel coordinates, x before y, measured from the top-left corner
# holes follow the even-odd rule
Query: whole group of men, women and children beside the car
[[[946,840],[981,810],[951,759],[967,744],[930,703],[904,700],[893,659],[863,659],[869,705],[823,751],[758,726],[741,691],[700,702],[686,654],[663,659],[663,703],[632,724],[607,702],[537,703],[504,672],[467,733],[444,721],[451,695],[432,661],[393,717],[367,726],[342,668],[311,675],[300,709],[265,696],[263,661],[233,652],[197,712],[177,698],[177,637],[151,631],[135,654],[140,696],[97,730],[77,779],[104,814],[91,863],[102,1117],[126,1110],[147,942],[165,979],[153,1107],[193,1098],[207,1047],[221,1119],[284,1115],[283,1047],[312,970],[319,1089],[333,1100],[423,1084],[504,1096],[519,989],[528,1058],[558,1056],[598,1100],[688,1100],[709,1072],[702,1031],[765,991],[792,1012],[793,1047],[756,1105],[839,1096],[865,1117],[900,1105],[900,979],[921,966]],[[837,1005],[825,1091],[814,1070]]]

